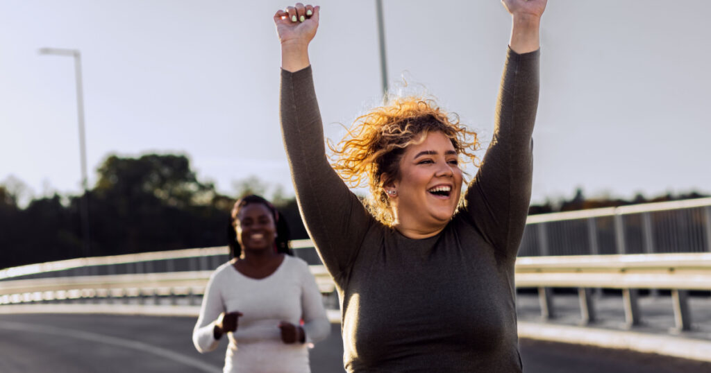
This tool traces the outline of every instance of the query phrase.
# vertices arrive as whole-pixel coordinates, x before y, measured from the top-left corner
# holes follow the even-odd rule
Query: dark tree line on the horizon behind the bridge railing
[[[146,154],[137,158],[109,156],[97,169],[97,182],[85,195],[33,198],[18,205],[17,191],[0,184],[0,268],[81,256],[158,252],[227,244],[228,217],[235,199],[263,194],[257,178],[237,184],[232,196],[213,183],[198,180],[188,157]],[[661,195],[632,200],[585,198],[577,190],[570,200],[530,206],[530,214],[616,207],[705,197],[702,193]],[[308,238],[294,197],[264,196],[284,214],[292,239]],[[90,252],[81,227],[82,201],[88,201]]]

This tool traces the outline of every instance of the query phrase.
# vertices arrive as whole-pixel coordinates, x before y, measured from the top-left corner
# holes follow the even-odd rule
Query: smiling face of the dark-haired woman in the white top
[[[274,249],[277,226],[272,211],[262,203],[250,203],[240,209],[235,220],[235,231],[242,249]]]

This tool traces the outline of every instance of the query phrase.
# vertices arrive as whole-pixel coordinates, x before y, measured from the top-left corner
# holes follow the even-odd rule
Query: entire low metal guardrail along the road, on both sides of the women
[[[322,293],[335,285],[324,266],[310,266]],[[53,279],[0,281],[0,305],[85,298],[139,298],[188,296],[194,304],[203,295],[212,271],[151,274],[70,276]],[[625,318],[630,326],[641,323],[637,290],[672,292],[678,330],[690,330],[689,290],[711,290],[711,253],[603,256],[520,257],[515,264],[517,288],[538,288],[542,316],[553,318],[551,288],[578,288],[584,323],[596,320],[592,288],[623,291]]]

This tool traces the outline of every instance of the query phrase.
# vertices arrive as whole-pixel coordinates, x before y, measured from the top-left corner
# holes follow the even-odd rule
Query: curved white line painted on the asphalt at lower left
[[[201,362],[200,360],[180,355],[176,352],[172,352],[171,350],[166,350],[161,347],[149,345],[144,342],[125,340],[119,337],[110,337],[108,335],[100,335],[97,333],[90,333],[81,330],[57,328],[55,326],[50,325],[34,325],[27,323],[16,323],[12,321],[0,321],[0,329],[16,330],[19,332],[45,333],[50,335],[58,335],[60,337],[74,337],[80,340],[88,340],[92,342],[100,342],[108,345],[130,348],[133,350],[139,350],[141,352],[148,352],[159,357],[164,357],[166,359],[173,360],[181,364],[186,364],[190,367],[200,369],[202,372],[215,373],[220,372],[222,370],[220,367],[215,367],[214,365]]]

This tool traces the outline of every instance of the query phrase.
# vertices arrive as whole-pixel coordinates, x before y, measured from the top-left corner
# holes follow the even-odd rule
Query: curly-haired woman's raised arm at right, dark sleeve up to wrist
[[[514,19],[515,21],[515,19]],[[517,28],[518,27],[518,28]],[[514,22],[513,30],[521,30]],[[469,184],[463,213],[496,254],[515,259],[523,236],[533,175],[533,125],[538,109],[538,23],[527,37],[512,34],[496,104],[493,139]],[[536,42],[531,38],[535,36]],[[518,50],[536,49],[528,53]]]

